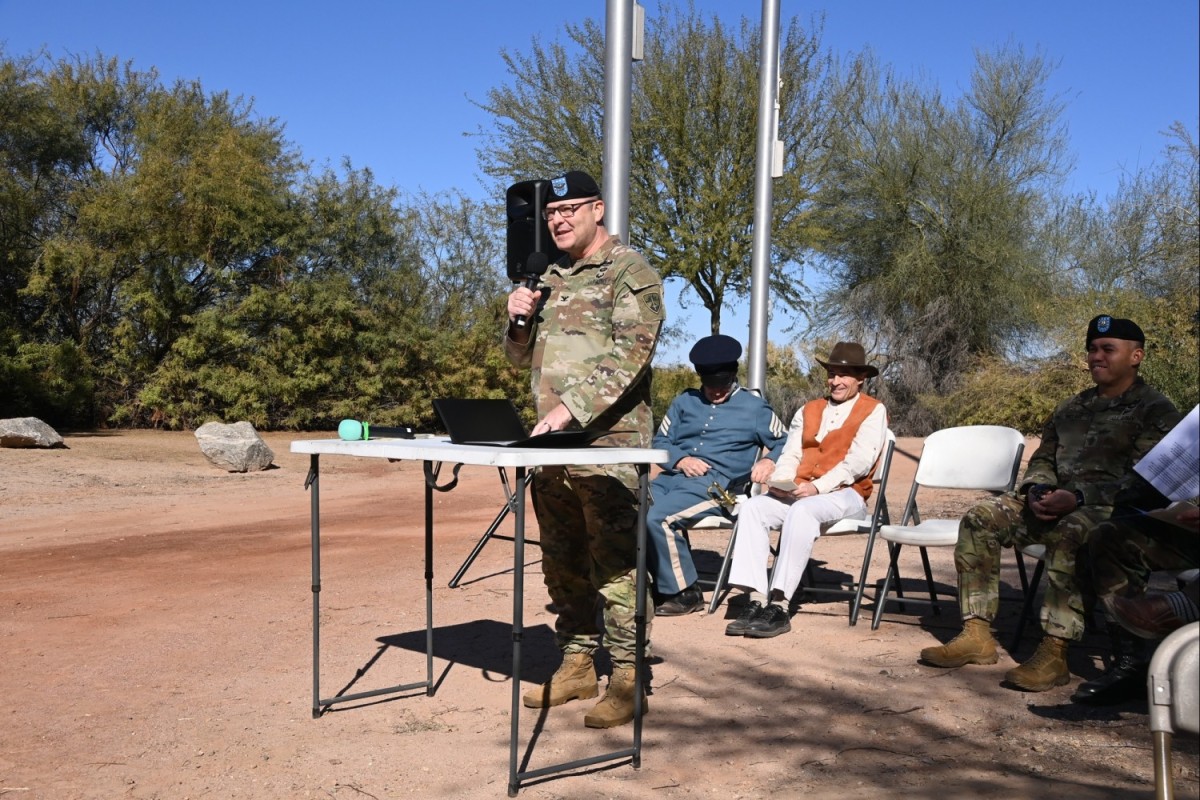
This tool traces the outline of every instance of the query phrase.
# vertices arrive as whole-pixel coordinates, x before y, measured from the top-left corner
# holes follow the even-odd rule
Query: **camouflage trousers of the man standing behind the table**
[[[534,475],[542,575],[558,612],[554,638],[564,654],[604,645],[617,666],[636,662],[637,473],[542,467]],[[647,625],[654,604],[646,603]],[[648,630],[648,628],[647,628]]]

